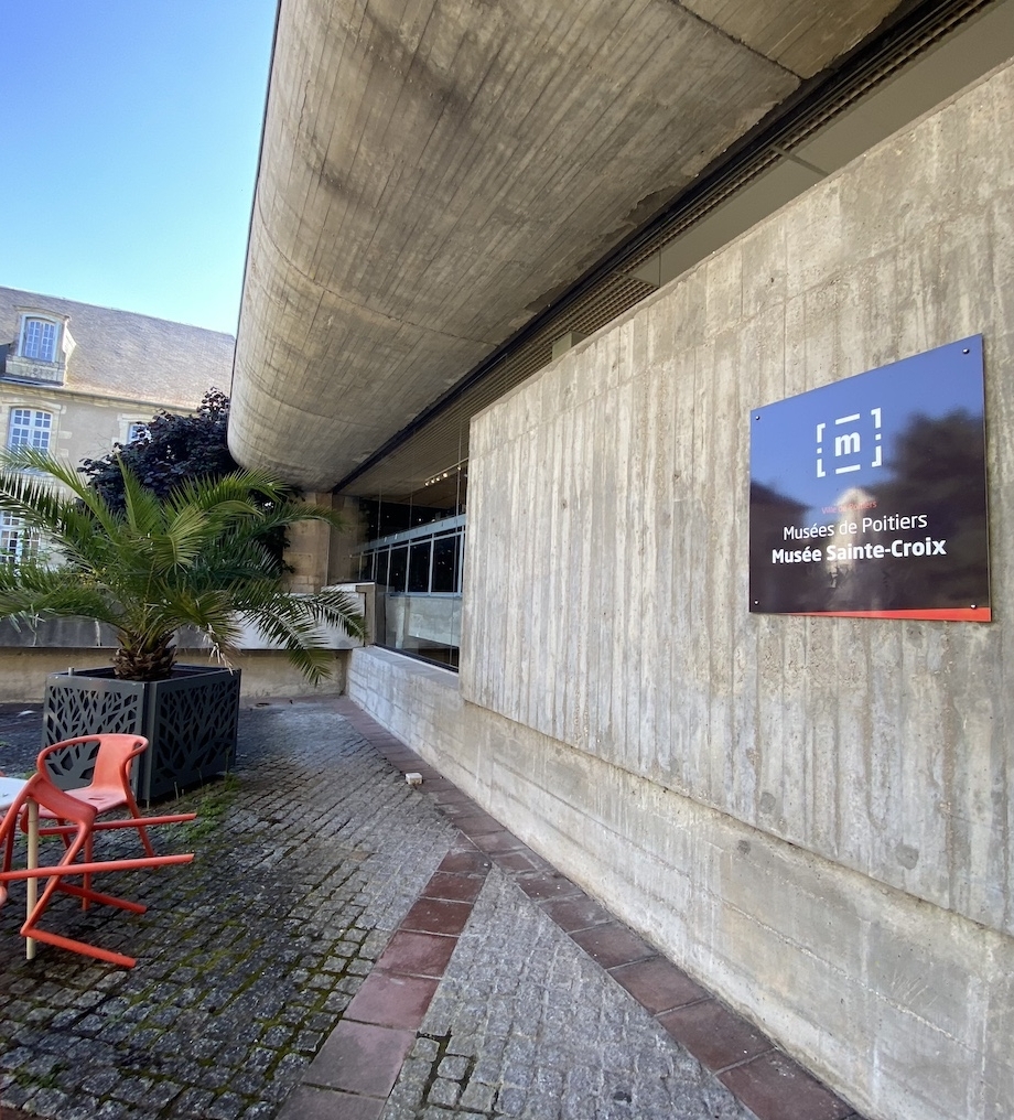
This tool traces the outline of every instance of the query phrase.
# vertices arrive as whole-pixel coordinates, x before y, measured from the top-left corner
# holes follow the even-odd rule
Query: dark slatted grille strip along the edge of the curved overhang
[[[830,77],[815,80],[795,104],[777,111],[777,120],[762,122],[723,157],[721,166],[702,176],[666,213],[462,377],[336,491],[407,502],[423,480],[467,460],[471,417],[552,361],[555,339],[570,332],[593,334],[655,291],[654,284],[632,272],[874,86],[994,2],[938,0],[918,6],[876,41],[855,52]]]

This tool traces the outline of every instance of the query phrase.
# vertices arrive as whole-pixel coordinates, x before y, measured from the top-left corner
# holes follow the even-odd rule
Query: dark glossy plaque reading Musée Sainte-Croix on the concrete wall
[[[980,335],[750,413],[750,609],[988,622]]]

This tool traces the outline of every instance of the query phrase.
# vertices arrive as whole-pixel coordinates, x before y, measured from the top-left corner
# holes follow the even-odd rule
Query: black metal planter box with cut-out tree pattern
[[[236,760],[240,670],[177,665],[166,681],[118,681],[112,668],[50,673],[43,708],[44,746],[81,735],[122,731],[151,744],[134,771],[139,801],[165,797],[231,769]],[[94,747],[50,756],[65,788],[91,775]]]

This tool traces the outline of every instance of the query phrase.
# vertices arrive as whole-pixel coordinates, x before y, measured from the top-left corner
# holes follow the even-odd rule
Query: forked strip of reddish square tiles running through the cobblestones
[[[758,1120],[863,1120],[351,701],[335,707],[393,766],[422,775],[423,791],[462,839],[391,939],[279,1120],[378,1120],[490,861]]]

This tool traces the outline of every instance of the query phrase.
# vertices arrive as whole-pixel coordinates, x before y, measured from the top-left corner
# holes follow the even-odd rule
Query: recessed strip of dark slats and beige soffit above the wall
[[[469,422],[826,175],[1014,55],[1014,0],[922,4],[720,157],[616,253],[344,478],[345,496],[460,507]]]

